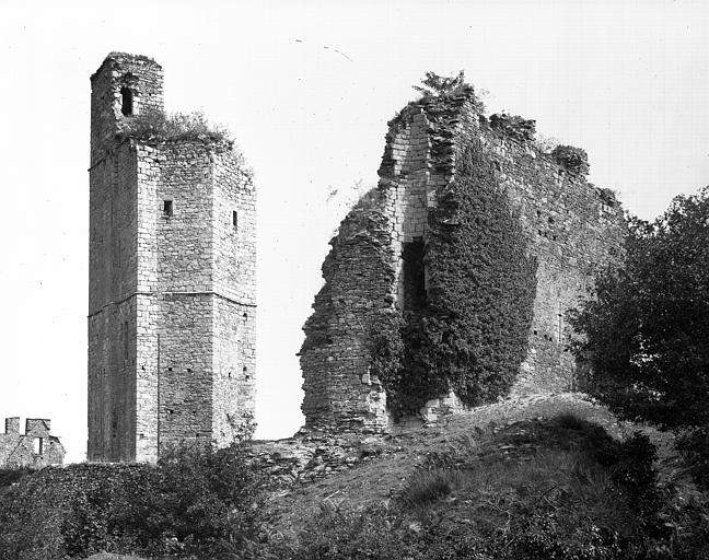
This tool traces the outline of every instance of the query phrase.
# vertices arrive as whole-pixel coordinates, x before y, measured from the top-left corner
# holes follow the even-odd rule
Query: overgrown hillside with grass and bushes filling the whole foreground
[[[348,440],[341,465],[318,457],[345,439],[312,435],[302,468],[318,476],[292,486],[255,477],[239,447],[175,455],[140,476],[43,471],[5,487],[0,557],[709,558],[707,495],[670,435],[632,428],[573,396],[537,396]],[[38,486],[77,472],[81,485],[61,495]]]

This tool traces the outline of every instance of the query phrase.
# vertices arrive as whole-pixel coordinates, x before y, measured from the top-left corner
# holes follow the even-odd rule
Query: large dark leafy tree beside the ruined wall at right
[[[653,222],[628,219],[621,269],[597,278],[571,323],[589,390],[624,418],[709,422],[709,187]]]

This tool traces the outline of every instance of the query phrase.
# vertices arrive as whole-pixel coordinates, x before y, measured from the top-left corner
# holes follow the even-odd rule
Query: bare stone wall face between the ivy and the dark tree
[[[573,389],[565,315],[588,295],[594,272],[619,258],[623,209],[609,190],[589,184],[585,173],[565,168],[530,142],[487,128],[481,133],[538,258],[530,352],[514,392]]]

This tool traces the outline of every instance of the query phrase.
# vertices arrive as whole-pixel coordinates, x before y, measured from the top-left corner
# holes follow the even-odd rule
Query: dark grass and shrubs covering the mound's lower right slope
[[[299,560],[640,560],[709,553],[709,503],[661,485],[655,447],[572,416],[432,452],[388,506],[325,508]]]

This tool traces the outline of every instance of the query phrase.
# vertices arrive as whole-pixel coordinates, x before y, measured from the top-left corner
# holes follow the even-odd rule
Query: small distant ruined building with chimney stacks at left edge
[[[63,457],[63,445],[50,434],[50,420],[27,418],[25,432],[20,433],[20,418],[5,418],[5,431],[0,433],[0,468],[61,465]]]

